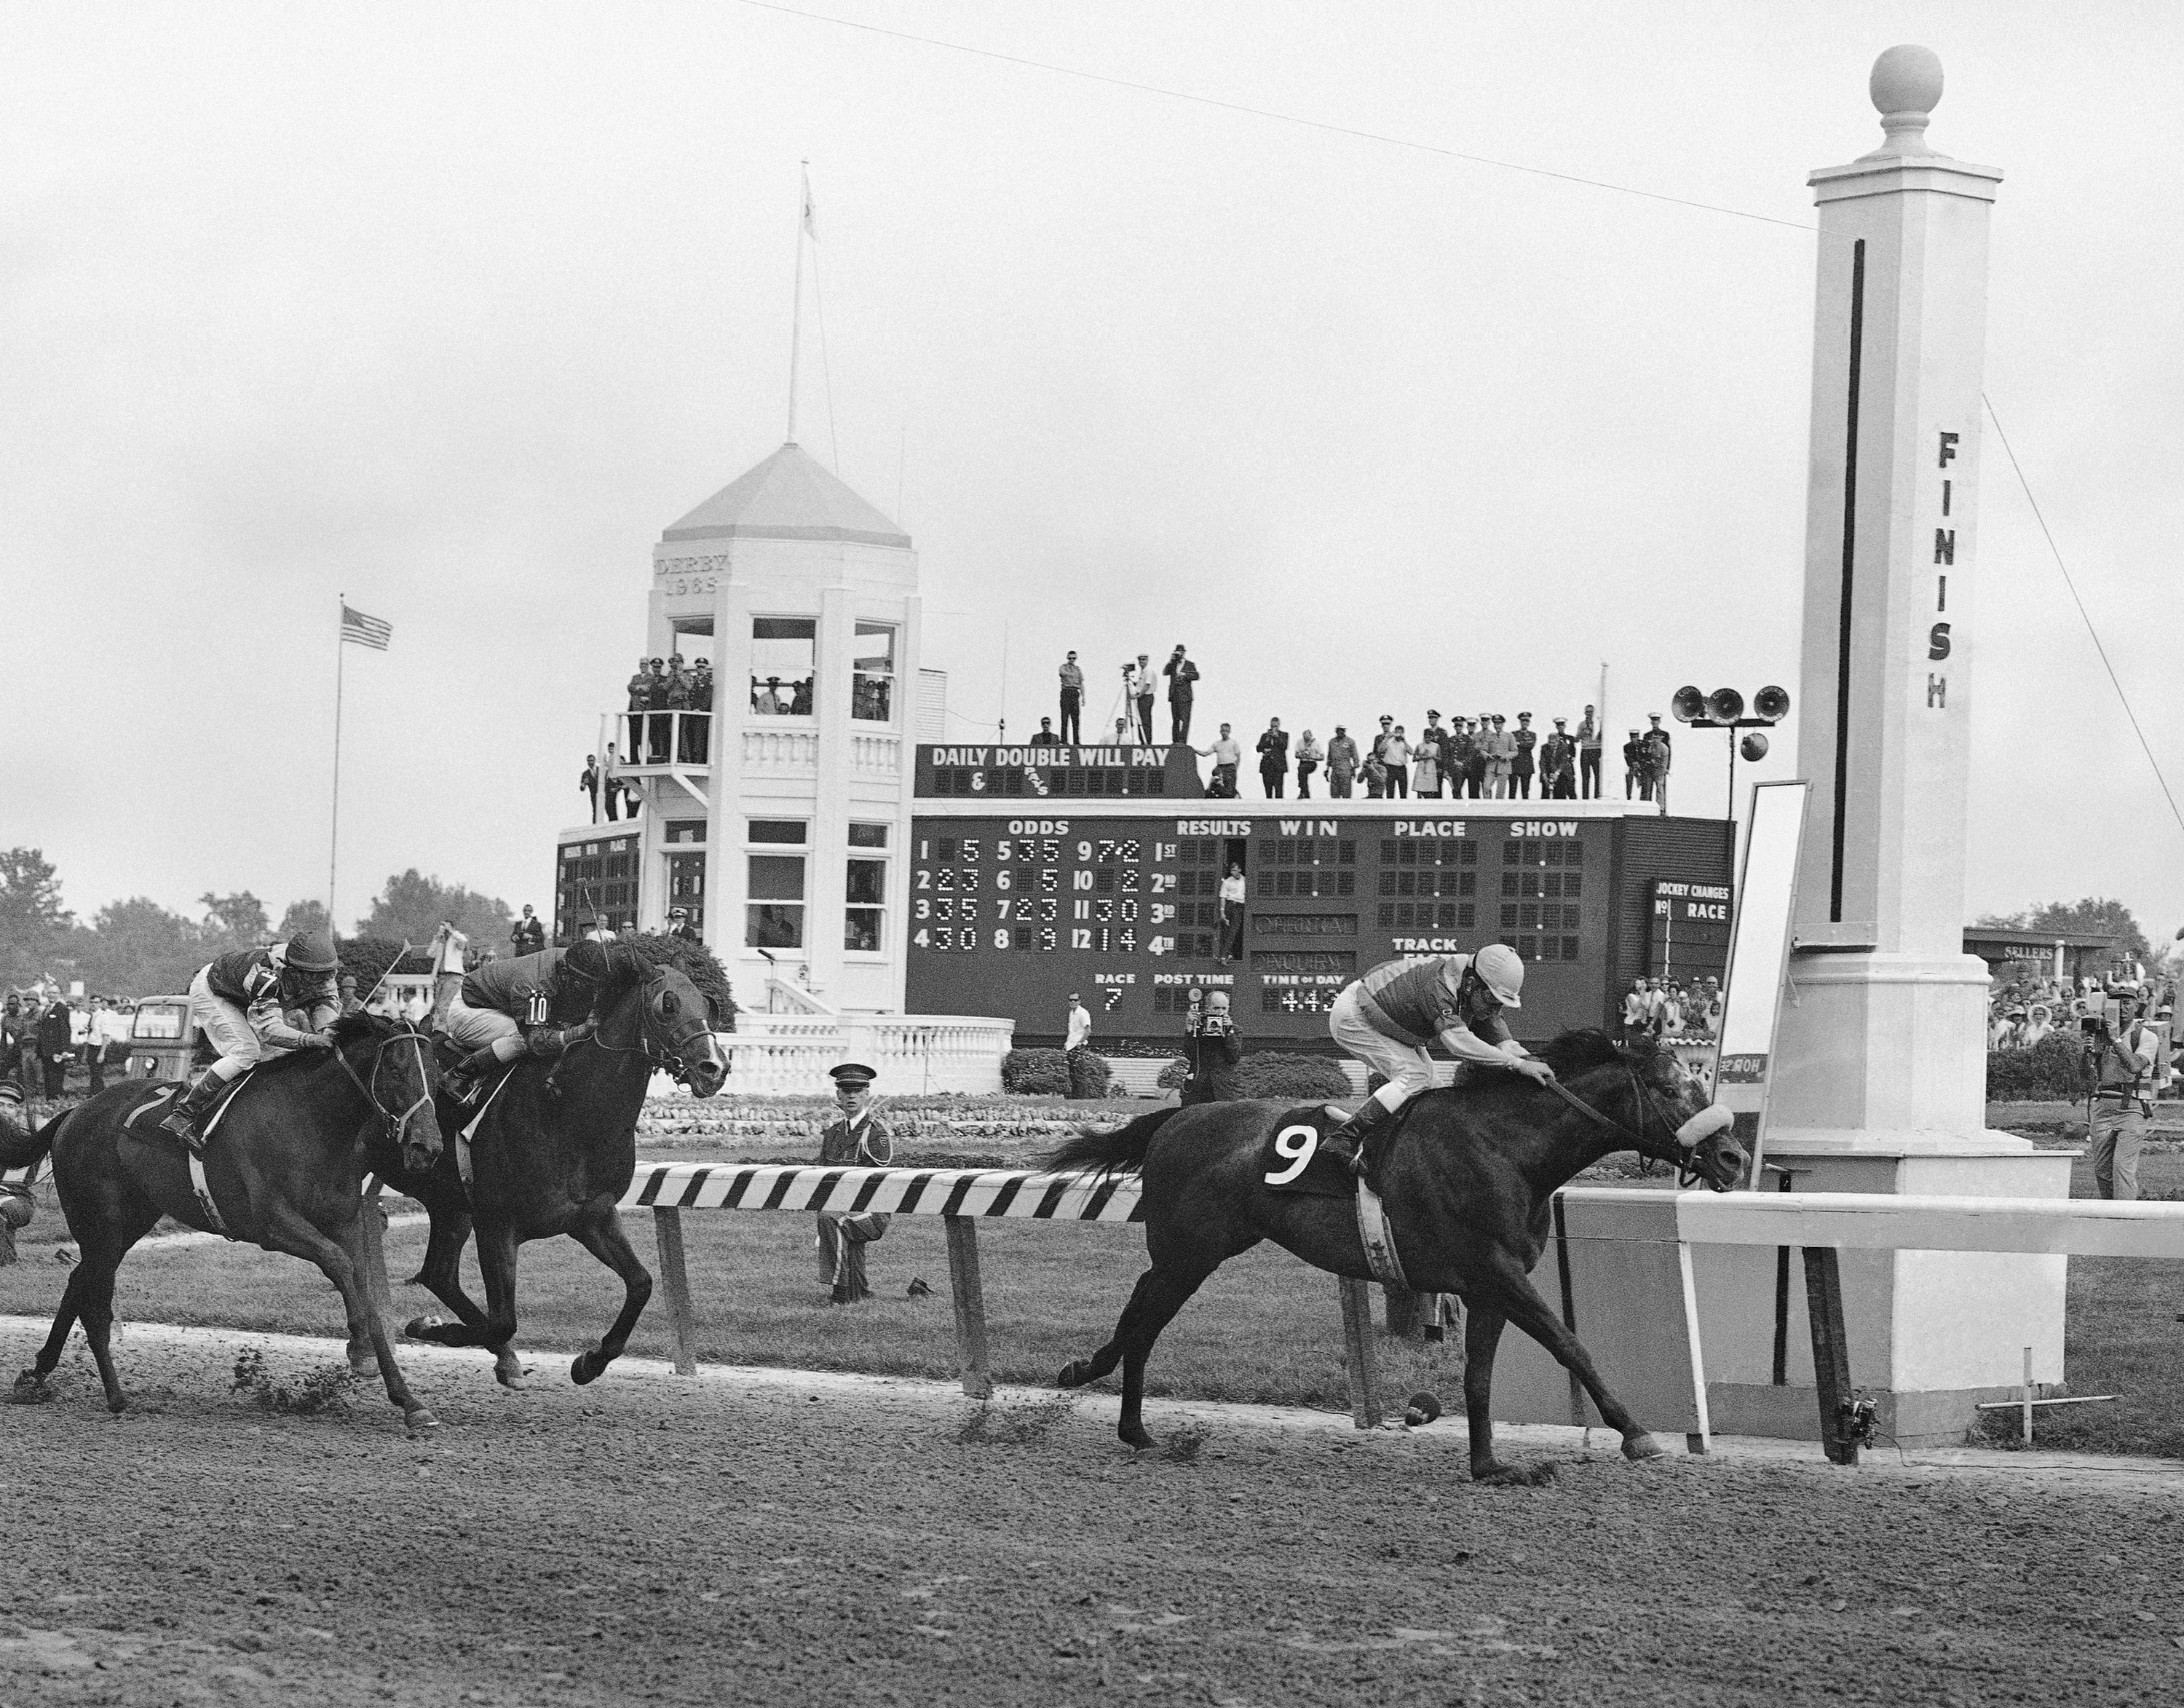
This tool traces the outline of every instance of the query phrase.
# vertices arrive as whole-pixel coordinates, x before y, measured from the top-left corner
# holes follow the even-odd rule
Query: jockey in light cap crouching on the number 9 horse
[[[1396,1112],[1433,1086],[1435,1037],[1457,1061],[1509,1068],[1527,1079],[1548,1081],[1555,1070],[1509,1035],[1500,1011],[1522,1007],[1524,961],[1507,944],[1487,944],[1479,954],[1435,954],[1417,961],[1382,961],[1348,985],[1328,1009],[1328,1033],[1387,1083],[1341,1127],[1326,1149],[1350,1158],[1350,1171],[1365,1175],[1372,1140],[1396,1125]]]

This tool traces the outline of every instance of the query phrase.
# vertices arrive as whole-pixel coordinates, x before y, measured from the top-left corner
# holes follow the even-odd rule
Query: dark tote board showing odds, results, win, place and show
[[[922,747],[911,1013],[1173,1037],[1188,992],[1241,1031],[1324,1040],[1380,961],[1509,944],[1520,1037],[1610,1024],[1647,972],[1655,885],[1730,882],[1728,826],[1623,802],[1208,799],[1188,749]],[[1241,902],[1223,909],[1223,880]]]

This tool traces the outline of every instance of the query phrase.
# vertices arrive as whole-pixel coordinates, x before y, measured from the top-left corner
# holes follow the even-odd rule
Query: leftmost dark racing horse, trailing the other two
[[[430,1169],[441,1153],[432,1092],[439,1075],[424,1033],[400,1020],[352,1013],[334,1022],[334,1048],[295,1051],[256,1068],[205,1144],[205,1179],[227,1232],[266,1252],[308,1258],[341,1291],[349,1315],[352,1367],[369,1348],[387,1398],[411,1431],[439,1428],[402,1380],[387,1324],[365,1291],[365,1169]],[[162,1214],[212,1232],[181,1142],[146,1114],[144,1081],[114,1086],[55,1116],[37,1134],[0,1127],[0,1169],[35,1164],[52,1151],[68,1232],[81,1258],[52,1317],[37,1365],[15,1378],[15,1400],[50,1398],[46,1378],[61,1361],[68,1330],[98,1361],[107,1407],[127,1407],[107,1339],[114,1328],[114,1271]]]

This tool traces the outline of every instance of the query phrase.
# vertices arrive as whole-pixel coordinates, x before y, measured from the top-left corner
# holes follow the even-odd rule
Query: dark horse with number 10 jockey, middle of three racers
[[[651,1271],[622,1232],[616,1201],[638,1171],[638,1112],[655,1068],[673,1070],[699,1096],[727,1079],[712,1035],[712,1013],[697,985],[675,968],[651,965],[627,944],[607,950],[607,985],[592,1009],[598,1031],[559,1061],[520,1057],[483,1118],[441,1099],[450,1134],[476,1120],[472,1179],[461,1177],[461,1142],[430,1173],[393,1184],[432,1212],[424,1267],[411,1278],[432,1289],[456,1321],[417,1317],[404,1332],[439,1345],[483,1345],[494,1374],[518,1387],[524,1374],[515,1335],[515,1252],[524,1241],[568,1234],[622,1278],[622,1313],[601,1343],[577,1354],[568,1374],[596,1380],[629,1343],[653,1295]],[[491,1079],[487,1081],[491,1090]],[[463,1241],[478,1234],[485,1308],[463,1291]]]

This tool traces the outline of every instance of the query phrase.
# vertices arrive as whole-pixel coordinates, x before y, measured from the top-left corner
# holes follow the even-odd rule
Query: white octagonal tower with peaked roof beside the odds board
[[[670,653],[712,662],[712,712],[603,719],[644,806],[561,834],[557,939],[594,913],[664,930],[681,906],[745,1009],[775,978],[836,1013],[900,1013],[909,535],[788,441],[653,546],[646,655]]]

